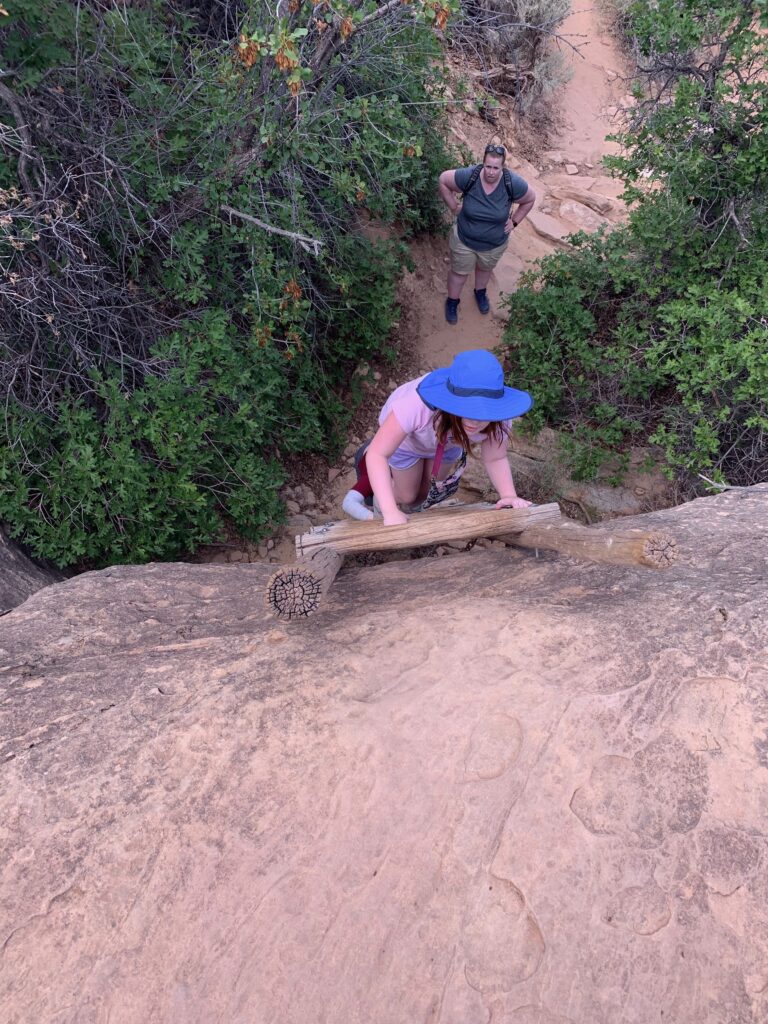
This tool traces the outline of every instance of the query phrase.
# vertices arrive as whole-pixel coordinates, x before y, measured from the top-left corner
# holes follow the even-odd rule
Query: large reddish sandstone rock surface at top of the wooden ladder
[[[48,587],[0,622],[3,1024],[768,1019],[765,489],[508,549]],[[604,528],[612,528],[611,523]]]

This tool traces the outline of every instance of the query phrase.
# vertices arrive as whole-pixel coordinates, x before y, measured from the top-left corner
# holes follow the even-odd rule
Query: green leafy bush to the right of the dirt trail
[[[628,16],[646,79],[609,163],[636,208],[523,280],[506,341],[537,397],[532,422],[571,428],[583,473],[645,439],[684,476],[753,483],[768,476],[760,27],[737,0],[659,0]]]

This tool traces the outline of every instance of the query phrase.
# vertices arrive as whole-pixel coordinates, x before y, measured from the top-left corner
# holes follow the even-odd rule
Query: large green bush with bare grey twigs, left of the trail
[[[59,565],[283,515],[438,222],[449,6],[17,0],[0,25],[0,518]]]

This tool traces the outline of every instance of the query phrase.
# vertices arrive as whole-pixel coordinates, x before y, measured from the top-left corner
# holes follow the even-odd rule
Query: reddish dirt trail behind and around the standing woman
[[[480,315],[468,282],[459,324],[449,326],[443,316],[446,244],[441,239],[429,239],[415,247],[416,270],[403,287],[406,301],[419,326],[415,347],[424,369],[445,366],[464,348],[493,348],[499,344],[506,318],[501,298],[515,290],[523,269],[561,247],[562,240],[572,231],[594,230],[602,221],[614,222],[625,213],[616,201],[621,186],[601,167],[602,158],[616,151],[605,136],[612,130],[611,117],[627,91],[622,80],[626,74],[624,57],[595,7],[573,11],[563,24],[562,35],[577,49],[563,48],[572,74],[559,97],[563,127],[554,147],[542,153],[536,165],[515,159],[511,125],[500,123],[498,128],[511,150],[509,166],[528,181],[538,200],[534,212],[515,232],[488,286],[493,315]],[[464,113],[457,116],[452,130],[478,159],[493,132],[479,118]],[[565,190],[573,195],[564,195]]]

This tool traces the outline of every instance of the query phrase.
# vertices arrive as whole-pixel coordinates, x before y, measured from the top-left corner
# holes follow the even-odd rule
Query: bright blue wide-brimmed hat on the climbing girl
[[[427,374],[416,390],[431,409],[466,420],[511,420],[534,404],[527,391],[504,386],[501,362],[484,348],[459,352],[450,367]]]

